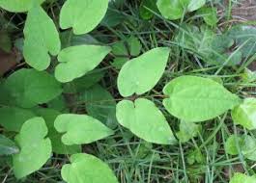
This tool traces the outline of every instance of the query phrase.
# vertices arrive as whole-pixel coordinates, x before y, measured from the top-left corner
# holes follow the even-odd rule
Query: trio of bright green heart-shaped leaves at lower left
[[[59,115],[54,126],[62,136],[62,142],[67,145],[90,144],[113,134],[113,131],[105,127],[99,120],[84,115]],[[47,126],[43,118],[31,118],[21,127],[15,141],[21,150],[14,154],[14,174],[17,178],[26,176],[35,170],[39,170],[51,155],[52,146],[47,135]],[[31,138],[33,137],[33,138]],[[117,182],[112,171],[99,159],[88,154],[74,154],[71,156],[71,165],[65,165],[62,170],[63,178],[68,182],[75,182],[77,172],[84,171],[84,180],[102,181],[102,177],[94,177],[91,172],[102,170],[102,176],[106,176],[109,182]],[[75,164],[75,165],[73,165]],[[93,166],[95,169],[92,169]],[[86,171],[85,171],[86,170]]]

